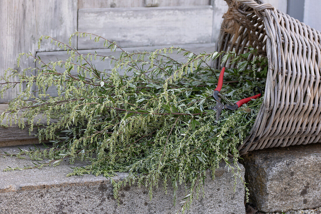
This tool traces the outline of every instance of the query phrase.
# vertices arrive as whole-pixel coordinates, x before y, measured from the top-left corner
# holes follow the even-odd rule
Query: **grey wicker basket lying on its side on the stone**
[[[240,154],[321,142],[320,32],[262,0],[225,1],[217,50],[251,46],[268,58],[264,101]]]

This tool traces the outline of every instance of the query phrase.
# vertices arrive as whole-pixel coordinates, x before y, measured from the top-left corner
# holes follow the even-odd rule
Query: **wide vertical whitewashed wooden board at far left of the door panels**
[[[41,35],[50,35],[68,42],[77,24],[77,0],[1,0],[0,1],[0,75],[8,67],[17,68],[19,52],[35,54]],[[44,42],[40,51],[58,50]],[[32,59],[22,58],[21,68],[32,65]],[[8,102],[17,94],[12,89],[0,103]]]

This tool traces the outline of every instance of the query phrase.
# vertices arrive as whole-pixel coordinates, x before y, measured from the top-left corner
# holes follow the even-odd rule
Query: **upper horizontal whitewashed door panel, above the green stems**
[[[121,47],[209,43],[212,25],[213,7],[209,5],[78,11],[78,31],[98,34]],[[78,49],[90,48],[103,48],[102,41],[78,39]]]

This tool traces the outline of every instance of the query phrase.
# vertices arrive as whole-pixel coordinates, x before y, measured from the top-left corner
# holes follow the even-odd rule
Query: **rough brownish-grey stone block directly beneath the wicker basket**
[[[250,197],[258,210],[321,206],[321,144],[264,149],[243,158]]]

